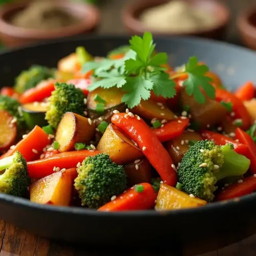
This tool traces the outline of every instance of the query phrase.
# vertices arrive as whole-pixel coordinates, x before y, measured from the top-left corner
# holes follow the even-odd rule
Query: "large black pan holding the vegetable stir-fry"
[[[97,56],[127,44],[128,37],[102,36],[68,39],[0,54],[0,84],[12,86],[14,77],[32,64],[56,67],[57,61],[77,46]],[[172,66],[196,55],[220,74],[225,86],[235,89],[255,82],[256,53],[223,42],[197,38],[155,38],[157,50],[167,52]],[[222,247],[256,231],[256,194],[239,200],[211,203],[201,208],[156,212],[108,213],[76,207],[54,207],[0,194],[0,218],[47,238],[99,246],[163,248],[197,244]]]

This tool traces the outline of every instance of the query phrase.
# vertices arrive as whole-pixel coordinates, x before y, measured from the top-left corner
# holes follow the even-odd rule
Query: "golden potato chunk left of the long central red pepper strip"
[[[117,164],[130,163],[143,156],[139,147],[114,124],[109,124],[106,128],[97,150],[109,154],[112,161]]]

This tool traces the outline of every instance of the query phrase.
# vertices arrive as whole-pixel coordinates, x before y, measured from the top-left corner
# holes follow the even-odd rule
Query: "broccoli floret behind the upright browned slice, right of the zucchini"
[[[73,84],[56,83],[55,91],[49,98],[49,110],[46,112],[46,120],[57,128],[62,116],[66,112],[73,112],[84,116],[84,94],[82,90]]]

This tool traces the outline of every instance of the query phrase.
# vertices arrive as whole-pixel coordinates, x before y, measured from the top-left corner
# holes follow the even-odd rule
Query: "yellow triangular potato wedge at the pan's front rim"
[[[200,198],[190,197],[175,187],[161,184],[157,196],[155,210],[160,211],[193,208],[203,206],[205,204],[207,204],[207,202]]]

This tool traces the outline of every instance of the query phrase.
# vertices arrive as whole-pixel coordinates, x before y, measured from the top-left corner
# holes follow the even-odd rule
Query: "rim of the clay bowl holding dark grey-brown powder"
[[[99,9],[90,3],[73,3],[67,0],[52,0],[57,6],[67,7],[70,6],[73,11],[79,9],[86,15],[84,18],[81,18],[80,21],[71,26],[58,28],[58,29],[26,29],[14,26],[4,19],[4,15],[7,12],[10,12],[15,9],[19,9],[25,6],[28,6],[31,1],[21,2],[21,3],[10,3],[4,4],[0,8],[0,33],[6,34],[8,36],[20,37],[20,38],[38,38],[38,39],[50,39],[57,37],[65,37],[76,35],[85,31],[90,31],[95,28],[100,22],[100,11]]]

